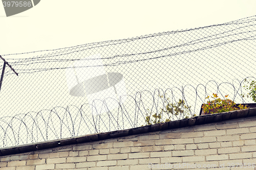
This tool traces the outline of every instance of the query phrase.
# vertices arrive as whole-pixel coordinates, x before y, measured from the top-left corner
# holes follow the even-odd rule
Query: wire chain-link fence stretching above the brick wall
[[[196,29],[2,55],[1,147],[199,115],[218,93],[252,103],[256,16]],[[10,59],[8,57],[20,59]],[[2,70],[3,66],[0,67]],[[180,108],[182,114],[170,113]],[[174,113],[174,112],[173,112]],[[152,119],[153,118],[153,119]]]

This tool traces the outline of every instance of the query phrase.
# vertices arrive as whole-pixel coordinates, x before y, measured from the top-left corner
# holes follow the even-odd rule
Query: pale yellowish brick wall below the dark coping
[[[0,160],[1,170],[211,169],[215,165],[255,169],[248,163],[256,163],[256,116],[2,156]]]

